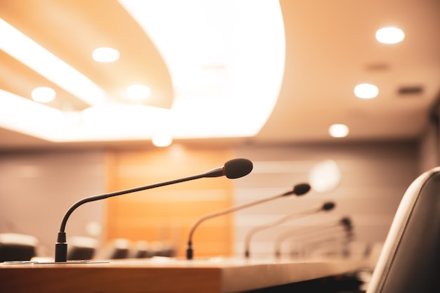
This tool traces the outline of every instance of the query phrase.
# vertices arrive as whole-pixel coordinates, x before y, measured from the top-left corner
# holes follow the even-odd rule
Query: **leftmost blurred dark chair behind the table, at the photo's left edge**
[[[37,254],[38,240],[31,235],[0,233],[0,261],[30,261]]]

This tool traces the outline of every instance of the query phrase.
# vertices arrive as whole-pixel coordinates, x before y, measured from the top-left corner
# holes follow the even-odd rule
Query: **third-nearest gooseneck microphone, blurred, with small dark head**
[[[245,258],[249,258],[250,257],[250,241],[252,239],[252,236],[254,236],[255,233],[261,231],[261,230],[266,230],[268,228],[274,227],[274,226],[278,226],[282,223],[285,223],[286,221],[289,221],[291,219],[298,219],[301,218],[302,216],[309,216],[311,214],[315,214],[319,211],[330,211],[332,209],[335,208],[335,203],[333,202],[325,202],[324,204],[322,204],[321,206],[317,207],[312,207],[310,209],[305,209],[303,211],[296,211],[293,214],[288,214],[287,216],[284,216],[283,218],[279,219],[278,221],[275,221],[273,223],[270,223],[268,225],[264,225],[264,226],[257,226],[252,228],[246,235],[245,237]]]

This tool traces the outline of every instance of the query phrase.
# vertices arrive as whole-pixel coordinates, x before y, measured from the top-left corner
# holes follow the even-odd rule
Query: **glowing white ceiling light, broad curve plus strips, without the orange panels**
[[[173,11],[166,1],[119,3],[163,56],[175,93],[172,108],[106,101],[105,92],[90,79],[72,67],[65,72],[67,63],[0,19],[0,39],[5,40],[0,50],[92,105],[77,113],[81,119],[72,124],[59,110],[29,98],[11,101],[0,91],[0,108],[8,112],[0,115],[1,127],[54,142],[151,140],[158,133],[173,139],[249,137],[259,132],[283,81],[285,32],[278,1],[176,1],[179,7]],[[254,13],[248,13],[250,6]],[[255,60],[260,70],[254,70]],[[221,70],[214,78],[200,78],[212,64]],[[29,112],[32,119],[17,112]]]

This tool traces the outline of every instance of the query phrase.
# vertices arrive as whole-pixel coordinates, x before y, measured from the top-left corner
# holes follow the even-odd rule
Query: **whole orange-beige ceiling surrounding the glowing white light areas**
[[[168,17],[179,13],[173,6],[177,2],[162,3],[172,11]],[[201,2],[188,1],[188,5],[198,3]],[[255,136],[233,136],[231,141],[377,141],[414,139],[422,134],[429,111],[440,94],[440,1],[281,0],[279,4],[285,32],[285,63],[282,82],[276,88],[278,100]],[[252,5],[245,11],[252,15]],[[227,11],[219,10],[219,14],[218,18],[226,23],[231,16]],[[145,15],[148,14],[145,12]],[[153,94],[145,103],[155,108],[171,108],[176,103],[176,96],[184,91],[176,84],[169,71],[169,61],[164,60],[153,38],[145,34],[120,2],[2,0],[0,18],[89,77],[117,103],[127,103],[121,91],[130,82],[148,80]],[[258,18],[261,24],[265,23],[264,15]],[[204,21],[200,26],[209,25],[209,18]],[[376,30],[389,25],[405,32],[401,43],[386,45],[375,40]],[[266,35],[261,27],[256,30],[261,36]],[[117,63],[103,65],[90,61],[90,52],[101,44],[118,48],[121,58]],[[273,60],[276,57],[279,56],[273,56]],[[264,60],[271,63],[270,56]],[[190,59],[186,61],[190,63]],[[255,61],[252,70],[258,71],[259,62]],[[209,74],[224,69],[221,62],[203,66],[205,72],[211,72]],[[271,76],[267,70],[264,74]],[[356,98],[354,86],[361,83],[375,84],[379,95],[373,99]],[[56,89],[56,100],[48,104],[52,108],[80,111],[89,106],[78,98],[75,89],[67,91],[0,50],[0,89],[30,99],[30,92],[39,84]],[[260,85],[261,82],[255,81],[256,88]],[[401,93],[405,89],[418,91]],[[202,84],[191,92],[200,105],[205,90]],[[253,107],[252,103],[247,104],[249,112]],[[6,112],[5,108],[0,109],[0,115]],[[228,120],[228,112],[221,115]],[[23,113],[16,113],[16,116],[23,121],[27,119]],[[331,124],[347,124],[349,136],[330,137]],[[112,139],[46,141],[22,134],[18,129],[11,130],[6,124],[0,126],[0,149],[4,150],[121,144]],[[181,138],[182,141],[195,139]],[[210,137],[207,141],[217,139],[228,141],[226,136]],[[122,144],[145,144],[145,140],[127,139]]]

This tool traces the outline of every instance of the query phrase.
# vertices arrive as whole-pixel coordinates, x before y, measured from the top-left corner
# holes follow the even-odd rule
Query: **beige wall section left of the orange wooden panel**
[[[104,193],[100,150],[0,153],[0,233],[38,238],[43,256],[53,256],[67,209],[77,200]],[[101,223],[103,202],[79,207],[67,221],[67,237],[88,236],[88,223]]]

